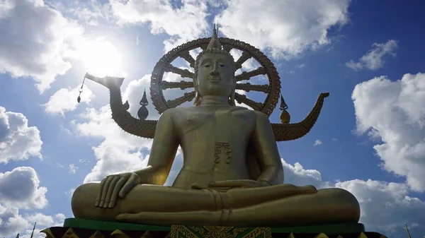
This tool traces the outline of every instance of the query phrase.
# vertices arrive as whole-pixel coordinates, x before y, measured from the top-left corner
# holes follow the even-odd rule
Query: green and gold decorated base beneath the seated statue
[[[79,218],[67,218],[63,227],[50,227],[41,232],[45,233],[47,238],[386,238],[377,232],[365,232],[361,223],[308,227],[161,227]]]

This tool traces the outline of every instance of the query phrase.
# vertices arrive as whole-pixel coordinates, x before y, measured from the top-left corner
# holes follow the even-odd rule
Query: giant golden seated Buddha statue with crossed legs
[[[348,191],[283,184],[272,125],[266,114],[235,106],[234,60],[216,31],[194,68],[195,106],[167,109],[153,124],[147,167],[79,186],[72,196],[75,218],[246,227],[358,222],[358,201]],[[124,117],[128,104],[116,96],[123,78],[91,79],[111,90],[115,121]],[[174,184],[164,186],[179,145],[183,167]]]

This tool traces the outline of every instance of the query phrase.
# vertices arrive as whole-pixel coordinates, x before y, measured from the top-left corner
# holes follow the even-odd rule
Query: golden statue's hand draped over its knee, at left
[[[125,198],[128,192],[140,183],[140,177],[134,172],[112,174],[102,180],[94,206],[98,208],[113,208],[120,198]]]

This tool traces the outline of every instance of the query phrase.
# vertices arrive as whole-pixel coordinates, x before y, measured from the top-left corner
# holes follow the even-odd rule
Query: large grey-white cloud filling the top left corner
[[[42,0],[1,1],[0,29],[0,73],[33,77],[40,93],[71,68],[64,52],[83,32]]]

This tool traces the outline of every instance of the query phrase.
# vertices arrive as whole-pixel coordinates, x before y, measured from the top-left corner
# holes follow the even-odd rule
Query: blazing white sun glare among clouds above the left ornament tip
[[[79,59],[87,73],[94,76],[123,76],[123,65],[118,49],[105,40],[84,42],[78,49]]]

